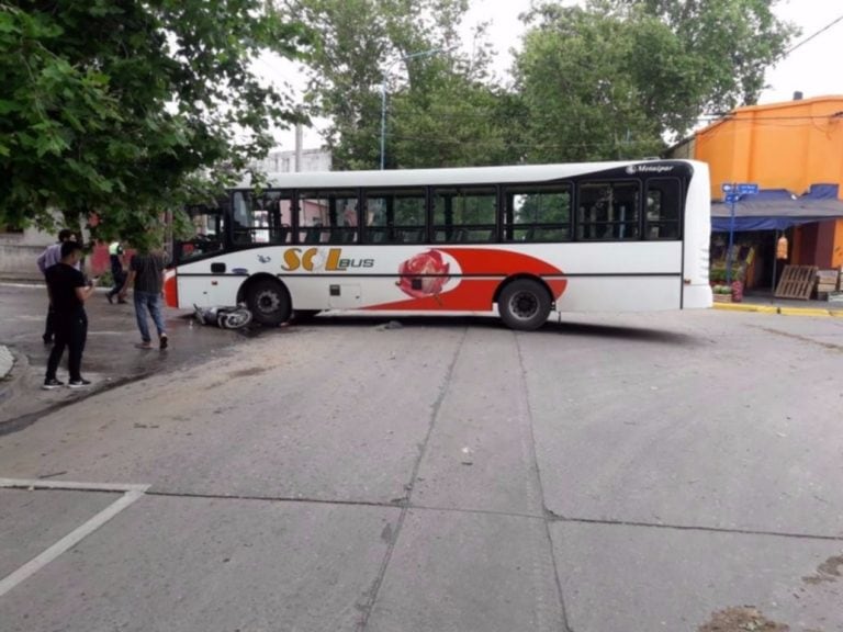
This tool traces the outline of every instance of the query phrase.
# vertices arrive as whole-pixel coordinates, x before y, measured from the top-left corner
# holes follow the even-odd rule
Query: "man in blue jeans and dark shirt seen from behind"
[[[146,320],[146,312],[153,317],[158,330],[158,343],[160,349],[167,349],[169,338],[161,316],[161,293],[164,290],[164,256],[160,252],[151,252],[146,248],[132,257],[128,263],[128,276],[120,291],[120,297],[125,298],[128,287],[132,286],[135,303],[135,318],[140,330],[140,342],[135,345],[138,349],[151,349],[153,338],[149,335],[149,324]]]

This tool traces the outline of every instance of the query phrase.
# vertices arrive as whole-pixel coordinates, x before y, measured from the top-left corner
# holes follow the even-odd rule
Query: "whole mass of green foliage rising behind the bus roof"
[[[485,25],[467,56],[467,0],[289,0],[319,42],[306,63],[314,114],[340,169],[380,159],[447,167],[653,156],[706,112],[754,103],[795,30],[773,0],[537,0],[522,16],[515,84],[490,74]],[[428,54],[419,55],[428,52]],[[435,52],[435,53],[430,53]]]

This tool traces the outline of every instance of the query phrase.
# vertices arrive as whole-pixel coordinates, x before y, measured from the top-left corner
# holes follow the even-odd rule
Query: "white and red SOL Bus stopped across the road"
[[[647,160],[284,173],[193,213],[169,305],[245,303],[278,325],[322,311],[705,308],[708,167]]]

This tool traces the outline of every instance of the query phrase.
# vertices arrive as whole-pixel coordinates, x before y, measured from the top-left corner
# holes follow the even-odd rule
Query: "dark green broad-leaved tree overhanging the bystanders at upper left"
[[[305,36],[261,0],[0,0],[0,222],[143,236],[295,117],[250,63]]]

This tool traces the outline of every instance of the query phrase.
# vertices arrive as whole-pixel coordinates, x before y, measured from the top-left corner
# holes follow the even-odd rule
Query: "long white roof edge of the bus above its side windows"
[[[324,189],[360,187],[423,187],[430,184],[497,184],[501,182],[541,182],[598,173],[611,169],[641,166],[694,165],[693,160],[619,160],[614,162],[570,162],[560,165],[518,165],[508,167],[460,167],[452,169],[395,169],[384,171],[305,171],[268,173],[267,189]],[[244,180],[235,189],[250,189]]]

